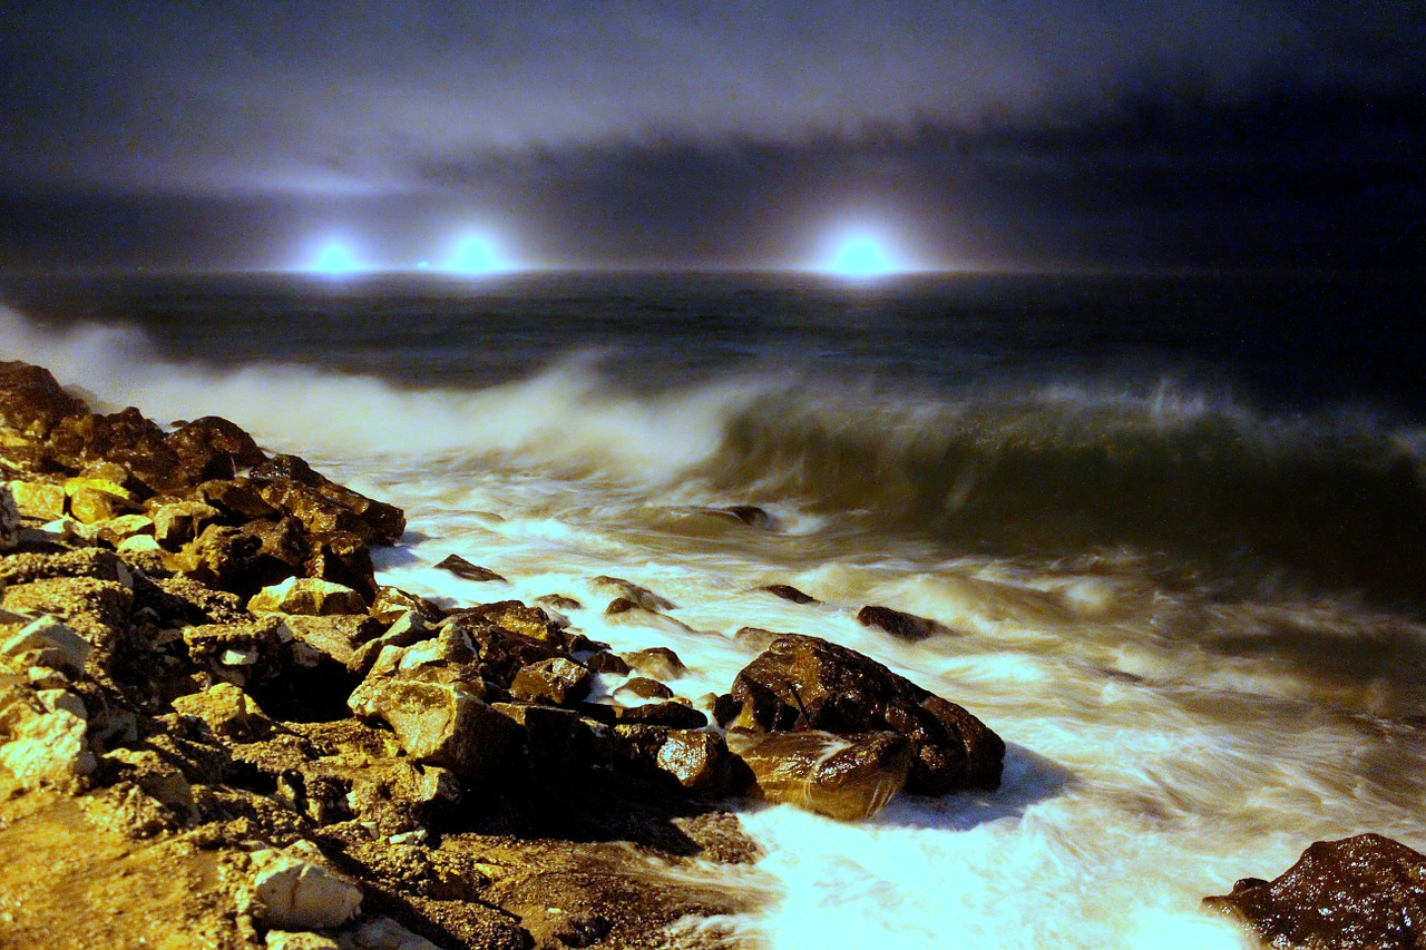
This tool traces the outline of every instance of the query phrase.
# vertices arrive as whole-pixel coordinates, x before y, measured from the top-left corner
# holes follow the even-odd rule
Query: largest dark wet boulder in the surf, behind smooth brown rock
[[[719,709],[723,726],[759,733],[900,733],[911,743],[907,792],[915,795],[1000,787],[1005,743],[980,719],[816,636],[779,638],[743,668]]]

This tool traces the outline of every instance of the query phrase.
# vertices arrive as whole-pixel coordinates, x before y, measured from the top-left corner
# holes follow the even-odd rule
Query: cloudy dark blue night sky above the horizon
[[[1426,3],[16,3],[0,268],[1415,267]]]

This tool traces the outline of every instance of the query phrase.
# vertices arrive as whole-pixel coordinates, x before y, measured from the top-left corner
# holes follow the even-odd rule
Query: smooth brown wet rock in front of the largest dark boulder
[[[906,786],[911,746],[894,732],[836,736],[820,729],[734,743],[770,802],[843,822],[874,816]]]

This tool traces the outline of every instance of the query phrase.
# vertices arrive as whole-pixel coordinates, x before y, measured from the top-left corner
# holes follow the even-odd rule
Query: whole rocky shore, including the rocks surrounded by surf
[[[382,586],[371,549],[404,531],[225,419],[97,414],[0,362],[0,947],[739,947],[729,916],[764,894],[729,803],[863,820],[1000,785],[985,723],[848,648],[744,628],[727,692],[677,696],[673,650],[616,653],[559,591]],[[1263,946],[1419,947],[1423,869],[1316,843],[1205,907]]]

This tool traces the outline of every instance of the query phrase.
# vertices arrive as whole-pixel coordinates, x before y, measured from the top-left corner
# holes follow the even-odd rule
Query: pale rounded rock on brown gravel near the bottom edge
[[[275,930],[339,927],[361,909],[361,889],[332,870],[308,842],[252,854],[254,911]]]

